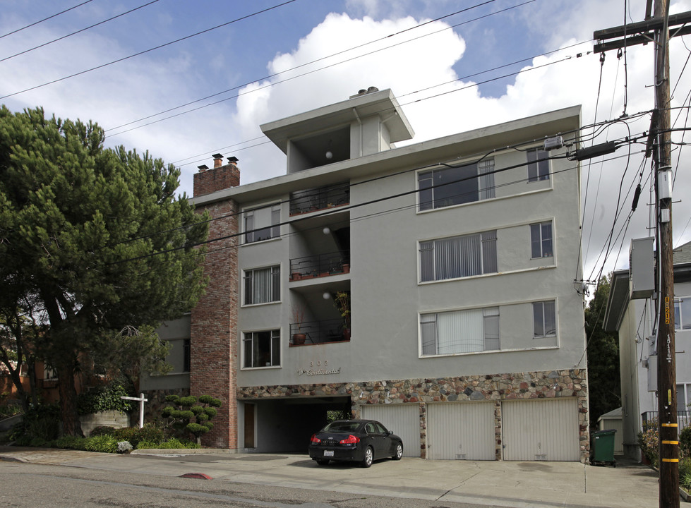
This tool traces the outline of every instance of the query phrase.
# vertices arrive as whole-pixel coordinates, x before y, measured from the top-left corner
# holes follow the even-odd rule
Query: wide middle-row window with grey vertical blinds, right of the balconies
[[[497,232],[420,242],[421,281],[497,272]]]

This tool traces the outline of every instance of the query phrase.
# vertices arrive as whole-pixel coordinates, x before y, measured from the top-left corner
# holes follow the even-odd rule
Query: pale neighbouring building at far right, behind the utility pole
[[[635,270],[612,275],[604,328],[619,333],[622,439],[625,456],[640,460],[637,436],[643,422],[657,416],[656,299],[652,238],[632,241]],[[691,242],[674,249],[674,322],[677,409],[680,429],[691,425]],[[634,279],[636,277],[636,279]],[[649,291],[633,284],[643,280]],[[633,295],[633,296],[632,296]]]

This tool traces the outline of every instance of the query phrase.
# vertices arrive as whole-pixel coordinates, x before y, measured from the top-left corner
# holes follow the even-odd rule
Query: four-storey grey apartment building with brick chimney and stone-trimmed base
[[[395,147],[412,128],[372,87],[262,126],[284,176],[201,167],[222,238],[190,325],[191,393],[224,401],[205,442],[304,451],[346,411],[407,456],[587,460],[579,163],[543,150],[579,117]]]

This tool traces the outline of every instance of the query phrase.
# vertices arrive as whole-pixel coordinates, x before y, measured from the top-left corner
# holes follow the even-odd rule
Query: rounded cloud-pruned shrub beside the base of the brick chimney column
[[[201,436],[213,428],[210,419],[217,415],[217,407],[221,406],[220,399],[210,395],[200,395],[199,398],[190,395],[178,397],[169,395],[166,401],[172,403],[161,411],[161,416],[167,418],[168,425],[186,430],[200,442]],[[204,405],[202,405],[204,404]]]

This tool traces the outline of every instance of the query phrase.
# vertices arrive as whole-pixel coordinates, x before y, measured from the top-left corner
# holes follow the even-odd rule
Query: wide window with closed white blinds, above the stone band
[[[423,355],[499,349],[499,308],[421,314]]]

